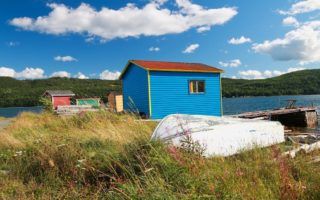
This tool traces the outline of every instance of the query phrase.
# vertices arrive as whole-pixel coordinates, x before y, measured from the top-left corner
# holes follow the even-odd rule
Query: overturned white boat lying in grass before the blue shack
[[[206,157],[230,156],[284,142],[284,127],[272,121],[175,114],[159,123],[151,139],[179,147],[186,136],[205,149]]]

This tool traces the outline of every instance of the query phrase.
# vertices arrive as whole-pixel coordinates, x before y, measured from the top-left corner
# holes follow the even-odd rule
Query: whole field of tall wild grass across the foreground
[[[319,199],[314,152],[280,146],[205,159],[150,142],[156,126],[109,112],[24,113],[0,133],[0,199]]]

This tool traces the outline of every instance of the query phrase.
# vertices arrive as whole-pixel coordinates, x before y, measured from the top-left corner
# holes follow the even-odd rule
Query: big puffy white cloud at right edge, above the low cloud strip
[[[289,31],[283,38],[254,44],[257,53],[269,54],[274,60],[298,60],[303,63],[320,61],[320,21],[310,21]]]

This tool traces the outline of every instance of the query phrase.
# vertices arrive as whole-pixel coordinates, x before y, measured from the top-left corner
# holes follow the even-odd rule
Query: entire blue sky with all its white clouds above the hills
[[[114,80],[130,59],[244,79],[317,68],[320,0],[0,1],[0,76]]]

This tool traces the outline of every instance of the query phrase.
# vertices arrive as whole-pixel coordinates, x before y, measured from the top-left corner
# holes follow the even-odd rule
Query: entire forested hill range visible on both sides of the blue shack
[[[320,69],[303,70],[262,79],[222,79],[224,97],[320,94]],[[106,101],[110,91],[120,91],[120,81],[50,78],[16,80],[0,77],[0,107],[39,105],[45,90],[72,90],[79,97],[101,97]]]

